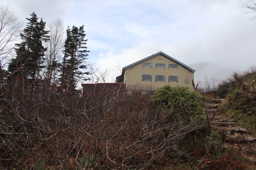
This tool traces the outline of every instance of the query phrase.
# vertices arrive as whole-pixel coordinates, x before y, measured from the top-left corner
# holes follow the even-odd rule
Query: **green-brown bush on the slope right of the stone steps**
[[[247,125],[256,134],[256,71],[234,73],[234,82],[220,111]]]

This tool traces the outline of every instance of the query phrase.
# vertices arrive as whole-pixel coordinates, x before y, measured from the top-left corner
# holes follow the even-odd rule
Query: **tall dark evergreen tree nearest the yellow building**
[[[62,75],[61,83],[66,85],[67,90],[74,90],[76,88],[76,82],[83,75],[88,75],[88,72],[84,72],[86,65],[84,63],[88,56],[86,50],[86,41],[84,26],[75,27],[72,29],[67,27],[67,38],[64,43],[64,57],[62,62]]]

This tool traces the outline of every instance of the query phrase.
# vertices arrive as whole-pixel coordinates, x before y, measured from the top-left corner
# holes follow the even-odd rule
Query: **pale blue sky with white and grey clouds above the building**
[[[256,21],[250,0],[0,0],[27,22],[33,11],[47,23],[85,26],[87,62],[108,68],[109,80],[159,51],[195,69],[195,82],[225,78],[256,64]],[[256,14],[256,13],[255,13]],[[24,24],[25,25],[25,24]]]

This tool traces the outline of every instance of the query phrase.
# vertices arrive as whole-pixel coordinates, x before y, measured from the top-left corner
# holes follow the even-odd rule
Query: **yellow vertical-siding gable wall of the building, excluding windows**
[[[152,63],[152,68],[142,67],[142,63]],[[156,68],[156,63],[165,63],[165,68]],[[170,86],[178,85],[189,87],[189,89],[192,90],[194,73],[180,64],[178,64],[178,69],[168,68],[168,64],[178,63],[159,54],[127,68],[125,70],[126,89],[136,88],[137,86],[156,89],[157,87],[163,87],[164,85],[169,84]],[[142,81],[142,74],[152,75],[152,82]],[[156,82],[155,75],[165,75],[165,82]],[[168,82],[168,76],[170,75],[178,76],[178,83]]]

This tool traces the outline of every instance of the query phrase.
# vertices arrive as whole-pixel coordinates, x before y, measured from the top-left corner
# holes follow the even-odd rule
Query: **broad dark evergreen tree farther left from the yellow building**
[[[47,50],[42,42],[48,41],[48,31],[45,31],[45,22],[41,19],[38,22],[38,17],[33,12],[31,18],[26,18],[29,22],[27,27],[21,33],[21,43],[16,44],[16,58],[12,59],[9,64],[8,70],[15,74],[22,73],[24,78],[31,78],[35,80],[38,78],[39,72],[42,69],[44,62],[43,56]]]

